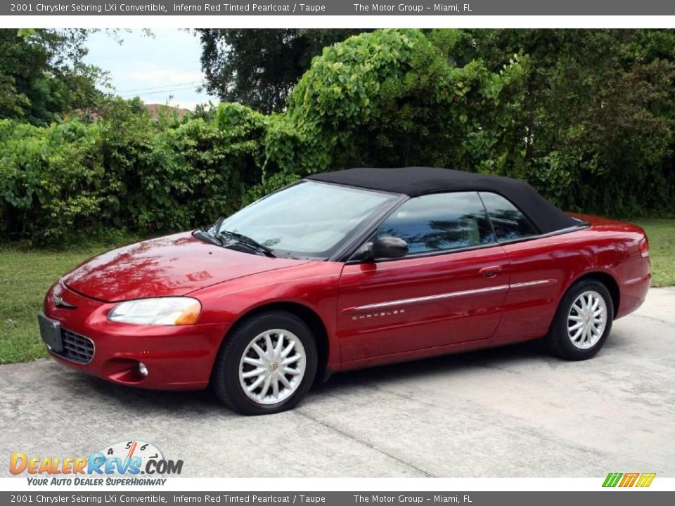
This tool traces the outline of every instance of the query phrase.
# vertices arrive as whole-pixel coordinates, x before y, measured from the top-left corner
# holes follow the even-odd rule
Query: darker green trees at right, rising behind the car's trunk
[[[506,174],[567,209],[673,212],[673,30],[466,30],[460,37],[460,61],[498,69],[516,53],[529,59],[525,100],[509,126],[520,149]]]

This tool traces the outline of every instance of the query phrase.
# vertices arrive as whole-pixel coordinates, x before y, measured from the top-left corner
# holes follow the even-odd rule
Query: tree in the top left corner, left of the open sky
[[[86,30],[0,30],[0,118],[49,124],[102,96],[86,65]]]

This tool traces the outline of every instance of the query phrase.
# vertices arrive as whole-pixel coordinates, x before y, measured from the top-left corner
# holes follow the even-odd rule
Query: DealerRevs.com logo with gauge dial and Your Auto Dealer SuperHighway
[[[164,485],[162,476],[181,474],[182,460],[167,460],[146,441],[120,441],[89,457],[10,456],[12,474],[28,474],[29,485]],[[143,475],[142,477],[140,475]]]

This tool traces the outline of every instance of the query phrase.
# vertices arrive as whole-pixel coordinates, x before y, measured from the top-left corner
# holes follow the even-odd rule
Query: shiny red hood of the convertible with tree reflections
[[[234,251],[191,233],[137,242],[89,259],[63,277],[71,290],[116,302],[185,295],[224,281],[307,263]]]

